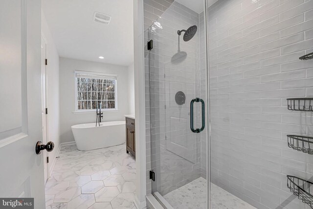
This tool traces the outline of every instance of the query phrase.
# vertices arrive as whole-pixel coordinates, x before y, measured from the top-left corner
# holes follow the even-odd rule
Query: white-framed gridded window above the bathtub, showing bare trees
[[[116,110],[116,76],[75,71],[76,111]]]

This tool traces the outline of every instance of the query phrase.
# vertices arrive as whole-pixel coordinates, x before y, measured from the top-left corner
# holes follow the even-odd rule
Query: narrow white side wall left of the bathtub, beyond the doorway
[[[48,140],[54,142],[54,151],[49,153],[49,159],[55,160],[60,146],[60,91],[59,91],[59,54],[52,39],[49,27],[42,12],[42,35],[47,50],[47,108],[48,108]],[[53,164],[53,161],[52,163]]]

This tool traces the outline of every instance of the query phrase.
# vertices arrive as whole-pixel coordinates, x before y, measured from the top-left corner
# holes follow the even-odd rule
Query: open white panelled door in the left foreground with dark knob
[[[0,98],[0,197],[44,209],[41,0],[0,0]]]

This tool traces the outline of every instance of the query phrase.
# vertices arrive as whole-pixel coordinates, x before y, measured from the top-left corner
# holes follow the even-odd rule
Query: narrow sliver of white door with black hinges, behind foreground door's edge
[[[46,97],[46,43],[45,39],[41,37],[41,92],[42,92],[42,123],[43,123],[43,143],[46,144],[48,142],[48,120],[47,120],[47,97]],[[45,174],[45,182],[49,178],[49,168],[48,168],[48,153],[44,152],[44,174]]]

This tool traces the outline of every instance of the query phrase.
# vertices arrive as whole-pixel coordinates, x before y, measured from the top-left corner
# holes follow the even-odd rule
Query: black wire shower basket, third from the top
[[[287,138],[290,148],[313,155],[313,137],[287,135]]]

